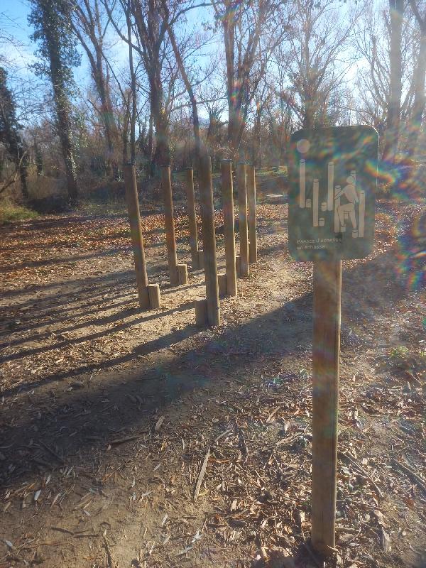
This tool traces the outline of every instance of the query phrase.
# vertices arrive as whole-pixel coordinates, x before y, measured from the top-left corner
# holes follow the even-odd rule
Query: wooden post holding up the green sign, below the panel
[[[312,356],[312,531],[315,550],[335,545],[342,261],[314,263]]]

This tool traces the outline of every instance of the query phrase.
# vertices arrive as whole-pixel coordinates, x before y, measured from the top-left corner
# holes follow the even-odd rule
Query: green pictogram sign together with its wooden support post
[[[288,246],[314,263],[312,545],[334,551],[342,258],[373,248],[378,136],[369,126],[301,130],[290,140]]]

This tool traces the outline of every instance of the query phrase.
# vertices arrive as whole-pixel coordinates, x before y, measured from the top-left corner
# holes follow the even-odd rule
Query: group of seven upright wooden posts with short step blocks
[[[203,250],[198,249],[197,217],[192,168],[186,170],[187,212],[190,227],[190,250],[192,268],[204,268],[206,298],[196,300],[197,324],[211,326],[220,323],[219,295],[236,296],[237,274],[249,276],[249,264],[257,261],[256,241],[256,180],[253,166],[237,165],[240,253],[236,256],[234,230],[234,190],[231,160],[222,160],[222,200],[224,209],[225,266],[224,274],[217,273],[216,234],[214,229],[214,206],[212,185],[212,163],[209,156],[200,160],[200,205],[202,217]],[[160,307],[158,284],[148,284],[141,215],[139,212],[136,170],[132,164],[124,166],[126,201],[129,209],[133,258],[136,269],[139,305],[143,310]],[[187,265],[178,264],[173,217],[173,195],[170,167],[161,172],[163,190],[165,236],[168,254],[168,269],[172,286],[187,283]]]

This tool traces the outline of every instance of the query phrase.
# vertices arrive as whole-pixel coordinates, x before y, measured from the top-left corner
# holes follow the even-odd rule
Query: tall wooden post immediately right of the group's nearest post
[[[224,208],[224,237],[226,263],[226,294],[236,296],[234,195],[232,187],[232,161],[222,160],[222,202]]]

